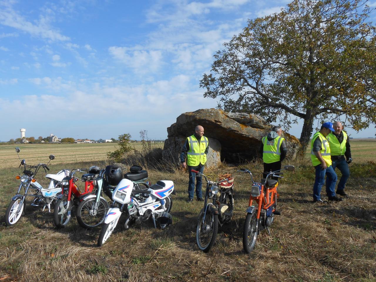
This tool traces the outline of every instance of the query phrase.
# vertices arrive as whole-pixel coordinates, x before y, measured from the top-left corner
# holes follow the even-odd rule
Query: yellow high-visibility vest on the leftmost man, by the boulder
[[[209,140],[205,136],[198,141],[196,136],[187,137],[189,142],[189,151],[187,152],[187,165],[190,167],[197,167],[200,163],[206,163],[206,147],[209,145]]]

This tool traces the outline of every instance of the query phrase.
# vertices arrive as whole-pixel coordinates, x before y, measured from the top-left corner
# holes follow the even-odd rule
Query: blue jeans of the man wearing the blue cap
[[[315,184],[313,185],[313,200],[320,200],[321,188],[325,183],[326,174],[326,195],[328,197],[335,196],[335,183],[337,182],[337,174],[332,166],[327,167],[325,170],[321,168],[321,164],[315,166]]]

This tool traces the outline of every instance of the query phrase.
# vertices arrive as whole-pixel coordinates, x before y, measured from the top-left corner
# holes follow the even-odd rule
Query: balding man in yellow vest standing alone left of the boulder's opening
[[[200,125],[196,126],[194,134],[187,137],[180,153],[180,162],[182,167],[188,166],[189,182],[188,182],[188,200],[192,202],[194,197],[194,179],[196,178],[196,197],[197,201],[202,201],[202,176],[196,176],[191,170],[203,173],[206,163],[206,155],[209,150],[209,140],[204,135],[204,128]],[[186,159],[186,161],[185,161]],[[196,176],[196,177],[195,177]]]

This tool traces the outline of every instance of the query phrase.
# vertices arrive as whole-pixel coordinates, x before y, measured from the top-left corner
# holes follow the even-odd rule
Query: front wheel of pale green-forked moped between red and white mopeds
[[[83,228],[90,229],[99,226],[105,220],[107,211],[109,209],[108,203],[106,202],[106,200],[100,198],[96,214],[93,214],[91,212],[91,209],[94,206],[95,202],[96,198],[93,197],[82,201],[77,207],[77,222]]]

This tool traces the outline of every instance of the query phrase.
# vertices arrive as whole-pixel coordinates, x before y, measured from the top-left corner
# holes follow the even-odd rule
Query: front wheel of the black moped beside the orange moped
[[[202,224],[204,214],[199,218],[196,229],[196,243],[200,250],[207,253],[213,246],[218,233],[218,215],[207,212],[205,223]],[[205,230],[204,230],[205,228]]]

